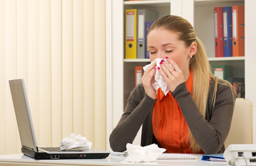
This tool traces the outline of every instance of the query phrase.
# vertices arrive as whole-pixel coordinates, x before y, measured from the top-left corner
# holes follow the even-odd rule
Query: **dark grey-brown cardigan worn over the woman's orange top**
[[[234,110],[235,92],[232,93],[230,87],[223,84],[218,84],[213,109],[211,101],[214,84],[215,81],[211,79],[206,118],[199,112],[190,92],[186,89],[185,82],[172,93],[179,103],[191,133],[205,154],[224,152],[224,142],[229,133]],[[142,84],[135,87],[119,123],[110,134],[110,147],[113,151],[125,151],[126,144],[134,141],[142,124],[141,146],[156,143],[152,133],[152,111],[155,101],[145,94]]]

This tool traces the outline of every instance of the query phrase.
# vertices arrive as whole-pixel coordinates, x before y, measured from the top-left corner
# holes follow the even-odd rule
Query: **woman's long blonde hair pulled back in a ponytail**
[[[179,34],[179,40],[183,40],[185,45],[189,47],[191,43],[195,42],[197,51],[194,56],[190,59],[190,68],[193,69],[193,100],[196,103],[201,115],[205,117],[206,106],[208,101],[208,93],[210,89],[210,77],[215,80],[214,85],[214,93],[213,93],[213,101],[211,101],[211,106],[214,108],[215,100],[216,100],[216,91],[218,87],[218,77],[215,77],[211,72],[210,64],[207,58],[207,54],[204,48],[203,43],[201,43],[200,39],[196,37],[194,28],[188,22],[188,20],[176,16],[176,15],[166,15],[162,18],[157,19],[150,27],[149,33],[153,29],[163,28],[166,30],[170,30],[171,32],[175,32]],[[228,82],[224,81],[224,84],[232,89],[232,93],[234,92],[233,86]],[[203,89],[203,90],[202,90]],[[234,98],[235,100],[235,98]],[[190,129],[188,132],[188,138],[190,139],[190,148],[193,149],[193,153],[200,152],[200,146],[195,141]]]

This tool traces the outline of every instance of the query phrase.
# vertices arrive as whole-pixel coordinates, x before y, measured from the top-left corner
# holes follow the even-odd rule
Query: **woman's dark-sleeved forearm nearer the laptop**
[[[126,150],[126,144],[134,141],[155,101],[145,94],[142,84],[131,92],[125,112],[110,134],[110,147],[113,151],[123,152]]]

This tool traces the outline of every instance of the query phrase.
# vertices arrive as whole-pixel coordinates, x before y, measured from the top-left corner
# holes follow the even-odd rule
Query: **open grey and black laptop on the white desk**
[[[110,152],[93,148],[81,151],[60,151],[60,147],[38,148],[24,80],[9,80],[9,85],[24,155],[33,159],[102,159],[109,156]]]

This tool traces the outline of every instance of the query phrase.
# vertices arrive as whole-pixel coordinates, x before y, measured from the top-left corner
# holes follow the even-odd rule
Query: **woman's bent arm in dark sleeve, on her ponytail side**
[[[209,96],[212,95],[210,92]],[[208,104],[207,111],[211,112],[211,116],[210,120],[205,120],[186,89],[185,82],[173,92],[191,133],[205,154],[218,153],[228,136],[234,111],[233,95],[235,94],[232,94],[230,87],[219,84],[214,110]]]

